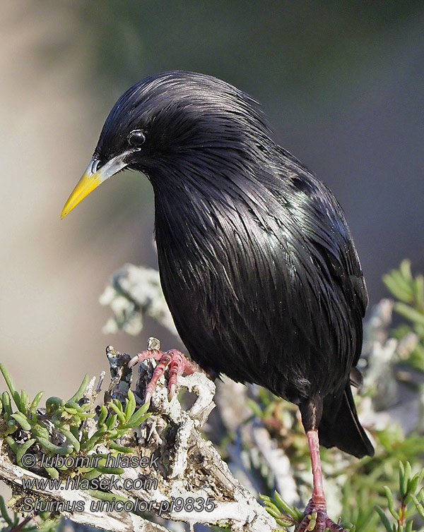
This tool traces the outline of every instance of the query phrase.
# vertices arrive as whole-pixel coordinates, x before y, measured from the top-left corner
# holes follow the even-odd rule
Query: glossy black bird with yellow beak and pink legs
[[[119,98],[62,217],[124,168],[153,186],[160,279],[192,360],[298,404],[306,512],[314,530],[341,531],[326,515],[318,435],[355,457],[374,449],[351,392],[367,289],[336,198],[273,140],[254,99],[199,73],[151,75]],[[179,353],[136,360],[153,354],[171,361],[175,387]],[[299,530],[312,526],[305,516]]]

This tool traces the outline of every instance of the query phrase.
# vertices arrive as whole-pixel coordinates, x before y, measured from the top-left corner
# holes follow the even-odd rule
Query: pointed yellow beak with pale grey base
[[[107,163],[103,164],[100,169],[97,169],[98,160],[93,157],[88,163],[88,167],[83,176],[78,183],[76,183],[76,187],[66,201],[60,217],[64,218],[66,214],[71,212],[73,207],[76,207],[76,205],[90,194],[90,192],[94,191],[100,183],[106,181],[106,179],[116,174],[119,170],[125,168],[127,163],[124,162],[124,158],[126,155],[128,155],[128,152],[125,152],[122,155],[117,155],[117,157],[114,157]]]

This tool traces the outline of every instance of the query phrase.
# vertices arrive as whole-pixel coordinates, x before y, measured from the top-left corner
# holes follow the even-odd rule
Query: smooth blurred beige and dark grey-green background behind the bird
[[[116,99],[144,76],[216,75],[261,102],[278,142],[334,191],[370,291],[424,270],[424,2],[3,0],[0,360],[31,395],[69,397],[104,350],[98,298],[125,262],[155,267],[153,192],[107,181],[59,214]],[[1,387],[4,389],[5,386]]]

